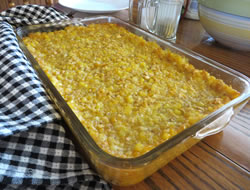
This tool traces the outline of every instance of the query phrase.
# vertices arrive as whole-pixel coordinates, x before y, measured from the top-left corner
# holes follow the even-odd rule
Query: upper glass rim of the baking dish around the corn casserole
[[[171,51],[174,49],[175,51],[181,52],[182,54],[188,55],[192,58],[195,58],[196,60],[199,60],[201,62],[204,62],[206,64],[209,64],[210,66],[214,67],[215,69],[219,69],[222,72],[225,73],[229,73],[230,75],[233,75],[235,77],[237,77],[238,79],[240,78],[240,80],[242,80],[242,82],[245,82],[245,86],[247,86],[246,89],[244,89],[244,91],[241,93],[241,95],[237,98],[235,98],[234,100],[230,101],[229,103],[225,104],[224,106],[222,106],[221,108],[219,108],[218,110],[212,112],[211,114],[209,114],[207,117],[205,117],[204,119],[198,121],[197,123],[195,123],[194,125],[190,126],[189,128],[183,130],[182,132],[180,132],[179,134],[173,136],[172,138],[170,138],[169,140],[163,142],[162,144],[154,147],[152,150],[146,152],[145,154],[138,156],[138,157],[134,157],[134,158],[120,158],[120,157],[115,157],[113,155],[110,155],[108,153],[106,153],[105,151],[103,151],[94,141],[94,139],[90,136],[90,134],[87,132],[87,130],[85,129],[85,127],[81,124],[81,122],[78,120],[78,118],[76,117],[76,115],[73,113],[73,111],[71,110],[71,108],[67,105],[66,101],[63,100],[62,96],[60,95],[60,93],[56,90],[56,88],[53,86],[53,84],[50,82],[50,80],[48,79],[48,77],[45,75],[45,73],[42,71],[42,69],[40,68],[39,64],[37,63],[37,61],[34,59],[34,57],[32,56],[32,54],[28,51],[28,49],[25,47],[24,43],[22,42],[22,32],[24,30],[29,30],[31,31],[32,28],[35,29],[39,29],[39,28],[49,28],[49,27],[61,27],[60,24],[65,24],[67,25],[67,22],[69,22],[69,24],[77,24],[78,22],[80,23],[87,23],[89,21],[97,21],[97,20],[107,20],[107,22],[113,23],[111,22],[112,20],[116,21],[115,23],[118,23],[118,25],[125,25],[127,27],[131,27],[131,28],[136,28],[136,31],[142,32],[142,33],[146,33],[148,35],[148,37],[150,39],[155,39],[157,40],[157,42],[159,43],[163,43],[164,45],[166,45],[168,48],[171,48]],[[72,22],[72,23],[70,23]],[[124,26],[123,26],[124,27]],[[126,27],[125,27],[126,28]],[[130,31],[131,32],[131,31]],[[226,112],[228,109],[237,106],[238,104],[241,104],[243,102],[246,102],[247,99],[250,97],[250,82],[249,82],[249,78],[246,77],[245,75],[229,68],[226,67],[216,61],[213,61],[209,58],[206,58],[198,53],[195,53],[191,50],[188,50],[187,48],[184,48],[180,45],[177,44],[173,44],[171,42],[168,42],[154,34],[151,34],[147,31],[145,31],[144,29],[141,29],[139,27],[137,27],[134,24],[128,23],[126,21],[123,21],[117,17],[114,16],[94,16],[94,17],[86,17],[86,18],[74,18],[71,20],[66,20],[65,22],[58,22],[57,23],[52,23],[52,24],[39,24],[39,25],[31,25],[31,26],[24,26],[24,27],[20,27],[16,29],[16,33],[18,35],[18,41],[20,44],[21,49],[24,51],[25,55],[27,56],[27,58],[30,60],[32,66],[34,67],[34,69],[36,70],[36,72],[38,73],[38,76],[40,78],[40,80],[42,80],[42,83],[46,83],[44,84],[44,86],[46,87],[46,90],[48,91],[48,94],[50,96],[53,96],[53,94],[56,96],[56,98],[51,97],[52,100],[55,102],[55,104],[59,107],[59,110],[61,112],[61,115],[63,115],[64,119],[66,120],[66,122],[69,125],[72,126],[77,126],[77,129],[75,130],[81,130],[78,133],[78,139],[82,139],[84,140],[85,144],[85,148],[87,148],[87,151],[91,151],[92,153],[96,154],[99,156],[99,159],[101,160],[101,162],[104,162],[108,165],[111,165],[112,167],[116,167],[116,168],[128,168],[128,167],[132,167],[132,168],[136,168],[136,167],[142,167],[143,165],[145,165],[148,162],[153,161],[154,159],[156,159],[158,156],[160,156],[160,154],[162,152],[166,152],[169,149],[171,149],[172,147],[174,147],[175,145],[181,143],[182,141],[184,141],[186,138],[193,136],[195,137],[195,134],[197,132],[199,132],[200,130],[202,130],[204,127],[206,127],[206,125],[208,125],[209,123],[213,122],[216,118],[220,117],[221,115],[224,114],[224,112]],[[192,64],[192,63],[190,63]],[[42,79],[41,79],[42,78]],[[56,100],[57,99],[57,100]],[[62,110],[61,110],[62,109]],[[64,111],[65,113],[62,113],[62,111]],[[68,116],[65,116],[68,115]],[[70,118],[69,118],[70,117]],[[81,128],[81,129],[80,129]]]

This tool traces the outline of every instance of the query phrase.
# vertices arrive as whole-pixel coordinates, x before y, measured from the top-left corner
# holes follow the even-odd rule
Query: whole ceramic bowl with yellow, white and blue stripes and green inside
[[[250,0],[199,0],[199,16],[216,41],[250,51]]]

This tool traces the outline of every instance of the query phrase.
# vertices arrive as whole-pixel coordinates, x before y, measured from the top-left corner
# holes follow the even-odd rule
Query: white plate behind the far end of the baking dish
[[[65,7],[87,13],[111,13],[128,8],[129,0],[59,0]]]

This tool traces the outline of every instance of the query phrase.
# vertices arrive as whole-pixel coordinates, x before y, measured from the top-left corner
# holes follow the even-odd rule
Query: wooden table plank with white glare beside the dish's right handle
[[[245,170],[250,170],[250,103],[238,113],[224,129],[223,133],[203,140],[213,149]]]

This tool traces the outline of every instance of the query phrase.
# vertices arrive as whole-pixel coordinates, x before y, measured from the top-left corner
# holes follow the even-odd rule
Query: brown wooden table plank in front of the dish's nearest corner
[[[249,173],[204,142],[129,189],[248,189]]]

